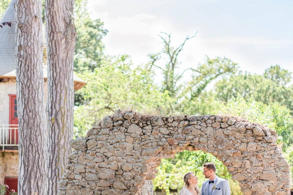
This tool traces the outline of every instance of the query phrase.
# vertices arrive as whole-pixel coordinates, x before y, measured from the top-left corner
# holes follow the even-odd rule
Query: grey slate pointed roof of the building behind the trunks
[[[0,28],[0,77],[16,77],[16,42],[15,42],[15,0],[12,0],[5,10],[0,23],[12,22]],[[43,32],[44,33],[44,32]],[[44,39],[43,39],[44,41]],[[47,66],[43,65],[44,78],[47,78]],[[85,81],[73,74],[74,89],[85,86]]]

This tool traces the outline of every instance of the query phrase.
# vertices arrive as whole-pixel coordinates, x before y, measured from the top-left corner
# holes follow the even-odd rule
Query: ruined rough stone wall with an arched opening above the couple
[[[142,116],[116,112],[103,118],[75,149],[59,183],[66,195],[137,195],[156,176],[161,158],[183,150],[217,157],[244,195],[289,194],[289,165],[276,144],[276,132],[235,117]]]

